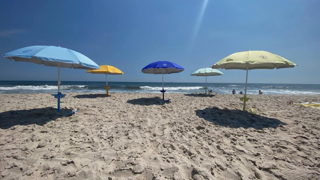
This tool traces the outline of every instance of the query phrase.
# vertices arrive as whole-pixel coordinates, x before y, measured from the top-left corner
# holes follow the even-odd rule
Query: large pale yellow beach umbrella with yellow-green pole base
[[[293,68],[295,63],[267,51],[244,51],[233,53],[211,66],[212,69],[226,70],[247,70],[244,97],[243,111],[245,111],[245,102],[249,100],[247,95],[248,70],[254,69],[281,69]]]

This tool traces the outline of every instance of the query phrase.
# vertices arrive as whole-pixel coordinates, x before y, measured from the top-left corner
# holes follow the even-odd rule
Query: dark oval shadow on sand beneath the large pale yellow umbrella
[[[219,109],[217,107],[205,108],[204,110],[195,110],[199,118],[212,122],[216,125],[231,128],[277,128],[280,124],[286,123],[279,119],[267,118],[260,115],[250,114],[241,110]]]

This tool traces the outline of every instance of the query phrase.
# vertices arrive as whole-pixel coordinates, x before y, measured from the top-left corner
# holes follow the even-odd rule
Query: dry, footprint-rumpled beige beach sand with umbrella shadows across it
[[[0,179],[320,179],[319,95],[160,97],[0,94]]]

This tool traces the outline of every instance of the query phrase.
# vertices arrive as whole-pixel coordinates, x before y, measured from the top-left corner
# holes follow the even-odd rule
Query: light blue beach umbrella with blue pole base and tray
[[[98,64],[87,56],[60,46],[29,46],[5,53],[2,57],[13,59],[14,61],[33,62],[45,66],[58,67],[58,94],[52,94],[58,99],[58,112],[60,112],[60,98],[66,96],[66,94],[61,94],[60,92],[60,67],[84,70],[100,68]]]

